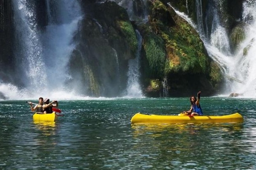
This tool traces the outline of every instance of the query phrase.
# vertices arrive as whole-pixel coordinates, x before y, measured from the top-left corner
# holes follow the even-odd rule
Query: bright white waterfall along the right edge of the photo
[[[245,23],[246,39],[229,66],[229,74],[244,83],[233,82],[232,91],[243,93],[245,97],[255,97],[256,93],[256,1],[243,4],[242,22]]]

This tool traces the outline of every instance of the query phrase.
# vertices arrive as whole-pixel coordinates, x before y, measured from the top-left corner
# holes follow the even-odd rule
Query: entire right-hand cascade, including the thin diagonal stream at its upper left
[[[227,95],[231,92],[243,94],[245,97],[255,97],[256,75],[254,68],[255,53],[255,3],[244,2],[244,13],[242,23],[248,25],[245,30],[247,39],[240,44],[240,48],[234,52],[231,51],[231,43],[229,42],[228,32],[224,18],[224,2],[212,0],[208,5],[207,14],[205,16],[206,30],[203,32],[203,22],[201,22],[201,9],[197,8],[198,25],[195,26],[191,20],[185,15],[176,11],[182,18],[185,18],[198,31],[201,39],[204,41],[205,48],[209,56],[219,63],[224,75],[226,75],[226,86],[224,93]],[[199,1],[197,4],[200,6]],[[248,18],[250,18],[248,20]],[[222,20],[222,22],[221,22]],[[210,26],[209,26],[210,25]],[[244,52],[247,52],[244,55]]]

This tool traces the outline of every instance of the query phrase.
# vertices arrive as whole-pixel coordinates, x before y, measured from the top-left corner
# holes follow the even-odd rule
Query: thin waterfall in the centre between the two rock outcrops
[[[128,66],[128,81],[126,89],[126,97],[143,97],[141,86],[139,84],[140,78],[140,59],[141,59],[141,46],[142,46],[142,37],[141,34],[136,30],[136,35],[138,39],[138,50],[136,52],[136,58],[130,59]]]

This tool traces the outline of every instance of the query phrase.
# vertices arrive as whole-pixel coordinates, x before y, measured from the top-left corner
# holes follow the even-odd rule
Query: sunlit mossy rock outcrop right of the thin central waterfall
[[[152,86],[167,79],[169,96],[187,96],[194,91],[215,93],[223,76],[217,63],[208,56],[196,30],[175,11],[161,3],[149,4],[149,22],[138,25],[143,36],[143,83],[145,94],[163,96],[163,86]]]

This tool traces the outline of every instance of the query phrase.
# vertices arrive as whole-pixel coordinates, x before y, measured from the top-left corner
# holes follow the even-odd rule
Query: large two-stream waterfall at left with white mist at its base
[[[25,75],[21,89],[13,84],[0,84],[9,100],[38,97],[72,97],[65,89],[67,62],[75,48],[74,35],[83,14],[77,0],[46,1],[48,25],[38,26],[35,2],[12,0],[14,6],[16,60]],[[58,89],[58,90],[57,90]],[[56,98],[55,98],[56,99]]]

